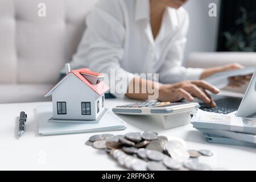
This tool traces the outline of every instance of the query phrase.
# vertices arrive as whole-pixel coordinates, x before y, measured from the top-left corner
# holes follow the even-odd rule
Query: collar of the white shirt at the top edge
[[[137,0],[135,4],[135,21],[150,19],[150,0]]]

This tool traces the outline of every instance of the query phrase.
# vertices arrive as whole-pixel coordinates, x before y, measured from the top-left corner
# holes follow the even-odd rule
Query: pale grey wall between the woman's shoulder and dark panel
[[[208,15],[209,3],[216,3],[217,17]],[[184,57],[185,64],[190,52],[216,51],[220,0],[189,0],[184,8],[190,16],[188,42]]]

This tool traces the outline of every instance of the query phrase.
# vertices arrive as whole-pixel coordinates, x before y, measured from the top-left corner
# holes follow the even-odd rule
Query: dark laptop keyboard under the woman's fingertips
[[[200,109],[212,113],[229,114],[236,110],[240,106],[242,98],[220,98],[215,100],[217,107],[210,107],[207,104],[200,104]]]

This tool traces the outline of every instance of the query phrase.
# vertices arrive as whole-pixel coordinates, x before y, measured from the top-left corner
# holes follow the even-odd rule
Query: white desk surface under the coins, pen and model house
[[[131,101],[125,101],[130,103]],[[41,137],[38,135],[34,108],[46,102],[0,105],[0,170],[120,170],[123,169],[105,154],[85,141],[93,135],[72,134]],[[124,104],[121,100],[106,100],[106,106],[112,108]],[[28,120],[26,133],[18,138],[16,130],[21,110],[26,111]],[[200,160],[214,166],[234,170],[256,170],[256,148],[226,146],[207,143],[202,134],[187,125],[164,130],[162,123],[148,121],[146,117],[121,116],[127,122],[127,129],[113,131],[113,134],[125,134],[129,131],[152,130],[167,137],[183,138],[188,149],[208,149],[214,151],[212,158],[200,157]],[[94,133],[96,134],[96,133]]]

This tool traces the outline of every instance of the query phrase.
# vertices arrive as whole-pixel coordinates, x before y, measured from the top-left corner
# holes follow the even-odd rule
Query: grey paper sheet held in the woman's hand
[[[209,82],[209,84],[217,86],[219,89],[223,89],[229,85],[228,78],[234,76],[246,76],[251,75],[255,72],[256,67],[246,67],[243,69],[237,69],[234,71],[226,71],[221,73],[216,73],[208,78],[205,81]]]

